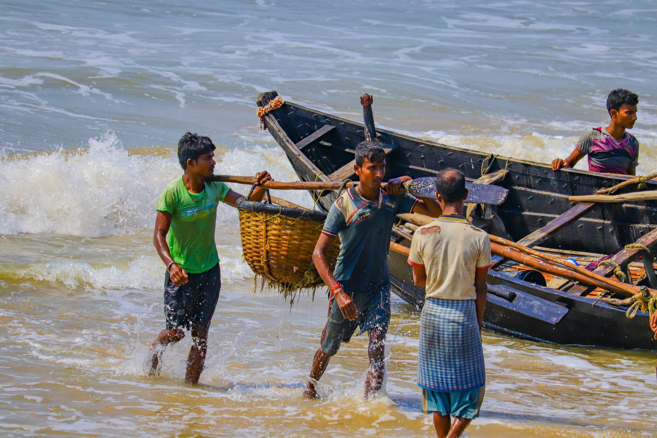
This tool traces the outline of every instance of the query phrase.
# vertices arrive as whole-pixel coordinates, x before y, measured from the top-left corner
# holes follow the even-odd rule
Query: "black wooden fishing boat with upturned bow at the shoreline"
[[[261,93],[257,104],[266,106],[277,96],[275,91]],[[367,109],[365,104],[364,108]],[[366,133],[375,132],[386,150],[386,179],[401,175],[414,179],[429,177],[446,167],[461,169],[468,181],[495,183],[509,190],[503,204],[472,210],[474,219],[480,221],[473,223],[484,229],[489,227],[489,234],[506,236],[558,257],[572,258],[580,265],[613,254],[612,261],[627,274],[627,281],[641,275],[645,278],[639,284],[657,288],[652,253],[641,249],[657,243],[656,200],[569,201],[571,196],[591,195],[629,177],[575,169],[552,171],[548,164],[492,156],[385,129],[374,130],[369,114],[370,120],[365,111],[363,124],[285,102],[264,114],[262,120],[301,181],[355,179],[355,147],[365,140]],[[634,186],[633,190],[636,189]],[[657,183],[647,181],[644,189],[656,190]],[[337,196],[337,192],[328,190],[311,193],[323,211],[328,211]],[[411,218],[401,217],[391,240],[409,246],[413,227]],[[643,247],[625,249],[627,244]],[[636,261],[639,256],[641,261]],[[635,317],[628,318],[627,307],[600,301],[604,290],[528,270],[500,257],[494,259],[496,265],[488,276],[484,316],[487,328],[558,344],[657,349],[648,313],[639,311]],[[406,257],[390,252],[389,262],[394,292],[421,307],[424,288],[413,284]],[[610,277],[614,275],[614,267],[600,264],[595,273]]]

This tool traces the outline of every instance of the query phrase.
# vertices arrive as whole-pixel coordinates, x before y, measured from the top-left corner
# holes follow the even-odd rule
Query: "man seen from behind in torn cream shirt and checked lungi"
[[[426,288],[417,384],[422,388],[422,411],[433,412],[438,438],[461,436],[479,416],[486,387],[480,331],[490,240],[463,217],[467,196],[461,171],[446,169],[436,175],[443,214],[415,231],[408,259],[413,281]]]

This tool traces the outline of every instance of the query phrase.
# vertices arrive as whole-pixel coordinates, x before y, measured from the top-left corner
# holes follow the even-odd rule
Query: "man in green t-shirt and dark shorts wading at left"
[[[187,359],[185,382],[198,383],[203,370],[208,328],[219,299],[221,274],[214,243],[217,204],[235,207],[242,197],[224,183],[208,183],[214,175],[215,146],[208,137],[186,133],[178,142],[183,175],[160,194],[153,243],[166,265],[164,314],[166,329],[150,347],[146,372],[157,374],[164,348],[191,330],[193,345]],[[272,181],[267,171],[256,173],[256,183]],[[256,188],[250,200],[262,200],[265,190]],[[166,235],[169,234],[169,241]]]

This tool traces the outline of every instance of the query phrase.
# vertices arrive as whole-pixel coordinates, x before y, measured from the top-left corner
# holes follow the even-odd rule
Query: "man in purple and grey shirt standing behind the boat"
[[[611,117],[608,127],[597,127],[579,138],[573,152],[562,160],[555,158],[552,169],[575,167],[589,156],[589,171],[636,175],[639,164],[639,141],[625,129],[632,129],[637,121],[639,96],[619,88],[609,93],[607,111]]]

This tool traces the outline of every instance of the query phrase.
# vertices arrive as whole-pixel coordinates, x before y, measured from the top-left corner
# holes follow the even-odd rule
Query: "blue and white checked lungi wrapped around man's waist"
[[[486,383],[474,299],[427,298],[420,315],[417,384],[440,392]]]

